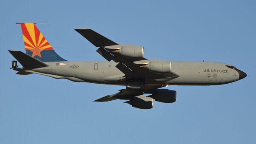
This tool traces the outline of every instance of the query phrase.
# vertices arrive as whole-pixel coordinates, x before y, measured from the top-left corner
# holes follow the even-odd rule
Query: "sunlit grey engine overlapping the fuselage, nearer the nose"
[[[172,62],[170,61],[156,60],[149,61],[141,67],[147,68],[149,71],[154,71],[157,73],[170,73],[172,70],[171,64]]]

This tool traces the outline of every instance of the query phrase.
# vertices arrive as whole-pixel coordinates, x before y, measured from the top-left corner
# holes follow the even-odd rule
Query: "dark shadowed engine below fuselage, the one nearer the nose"
[[[148,97],[155,99],[157,102],[172,103],[176,102],[176,91],[167,89],[157,89],[155,93]]]

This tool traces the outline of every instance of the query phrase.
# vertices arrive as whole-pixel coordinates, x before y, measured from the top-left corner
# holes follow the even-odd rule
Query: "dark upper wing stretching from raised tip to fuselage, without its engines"
[[[129,58],[125,56],[121,56],[121,54],[117,54],[114,52],[115,46],[118,47],[119,44],[109,40],[108,38],[98,34],[97,32],[91,29],[75,29],[79,34],[81,34],[84,38],[90,41],[96,47],[99,47],[97,52],[102,55],[108,61],[113,60],[114,62],[119,62],[116,65],[120,71],[125,73],[127,78],[140,78],[140,77],[148,77],[148,78],[157,78],[157,77],[166,77],[166,78],[176,78],[178,77],[174,73],[155,73],[149,71],[146,68],[143,68],[142,64],[137,62],[147,63],[148,60],[144,57],[139,58]],[[110,47],[112,49],[110,49]],[[135,51],[135,50],[134,50]]]

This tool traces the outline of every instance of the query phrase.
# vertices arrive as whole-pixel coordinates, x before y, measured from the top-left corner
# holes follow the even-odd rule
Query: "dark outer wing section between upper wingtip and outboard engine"
[[[96,47],[104,47],[110,45],[118,45],[116,42],[109,40],[108,38],[102,36],[101,34],[96,33],[92,29],[75,29],[79,34],[81,34],[84,38],[86,38],[89,42],[91,42]]]

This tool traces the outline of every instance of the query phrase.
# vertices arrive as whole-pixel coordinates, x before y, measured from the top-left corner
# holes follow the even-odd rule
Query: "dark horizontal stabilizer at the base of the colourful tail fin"
[[[42,67],[47,67],[48,66],[44,62],[41,62],[40,60],[35,59],[34,57],[29,56],[29,55],[27,55],[27,54],[25,54],[21,51],[11,51],[11,50],[9,50],[9,52],[25,68],[42,68]]]

